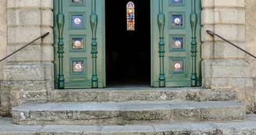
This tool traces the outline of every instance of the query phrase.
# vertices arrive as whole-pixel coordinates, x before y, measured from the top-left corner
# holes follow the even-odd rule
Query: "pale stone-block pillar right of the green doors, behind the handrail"
[[[202,75],[204,87],[236,91],[247,111],[254,112],[254,85],[245,53],[206,33],[215,31],[245,49],[246,4],[244,0],[202,0]]]

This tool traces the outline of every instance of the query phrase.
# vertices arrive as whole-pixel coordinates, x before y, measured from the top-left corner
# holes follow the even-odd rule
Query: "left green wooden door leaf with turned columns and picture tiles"
[[[104,2],[54,1],[55,88],[105,87]]]

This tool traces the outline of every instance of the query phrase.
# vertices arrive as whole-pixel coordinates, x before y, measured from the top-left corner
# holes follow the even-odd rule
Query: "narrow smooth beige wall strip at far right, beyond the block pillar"
[[[245,16],[246,16],[246,50],[253,55],[256,55],[256,1],[255,0],[245,0]],[[251,76],[254,80],[254,87],[256,87],[256,59],[250,55],[246,55],[246,61],[251,67]],[[254,98],[251,100],[251,104],[254,106],[254,112],[256,112],[256,91],[251,91],[251,95]]]

